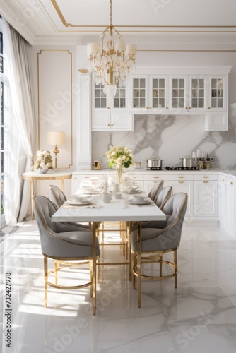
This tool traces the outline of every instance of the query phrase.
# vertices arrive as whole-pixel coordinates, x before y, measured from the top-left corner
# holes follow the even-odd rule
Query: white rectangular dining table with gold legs
[[[165,213],[152,201],[149,203],[135,203],[131,198],[128,207],[124,208],[124,200],[112,198],[110,203],[101,203],[95,207],[94,203],[76,205],[69,203],[61,207],[52,215],[52,222],[91,222],[93,224],[93,314],[96,311],[96,227],[97,222],[137,222],[138,255],[137,270],[141,271],[141,222],[160,220],[165,221]],[[131,259],[129,260],[131,261]],[[138,276],[140,278],[140,276]],[[138,280],[138,293],[141,293],[141,280]],[[141,295],[138,295],[138,307],[141,306]]]

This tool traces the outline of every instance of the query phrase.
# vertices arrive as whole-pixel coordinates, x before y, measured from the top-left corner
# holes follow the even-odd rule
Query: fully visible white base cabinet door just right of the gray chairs
[[[217,217],[217,181],[194,181],[195,217]]]

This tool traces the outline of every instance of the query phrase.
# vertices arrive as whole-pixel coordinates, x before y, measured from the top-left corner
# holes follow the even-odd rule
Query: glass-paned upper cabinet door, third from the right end
[[[189,104],[187,100],[187,76],[170,77],[170,109],[186,112]]]

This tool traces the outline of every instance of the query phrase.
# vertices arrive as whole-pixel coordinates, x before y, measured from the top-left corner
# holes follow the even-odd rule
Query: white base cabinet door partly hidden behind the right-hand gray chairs
[[[193,200],[193,181],[186,180],[167,180],[165,186],[172,186],[172,193],[187,193],[188,203],[186,216],[192,216],[192,200]]]

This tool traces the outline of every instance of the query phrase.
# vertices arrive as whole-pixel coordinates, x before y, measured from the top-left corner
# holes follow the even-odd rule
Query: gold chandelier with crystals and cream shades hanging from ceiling
[[[136,45],[125,45],[122,35],[112,25],[112,0],[110,0],[110,25],[102,32],[99,42],[89,43],[88,60],[96,85],[104,85],[105,94],[114,97],[117,87],[124,87],[126,77],[135,65]]]

